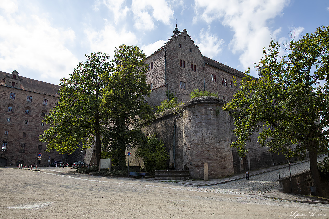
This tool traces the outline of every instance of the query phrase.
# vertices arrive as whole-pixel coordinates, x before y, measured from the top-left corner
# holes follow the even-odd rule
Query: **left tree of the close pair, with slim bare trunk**
[[[40,141],[49,142],[48,150],[55,148],[71,154],[88,140],[96,143],[96,158],[99,165],[103,114],[100,111],[102,89],[109,77],[112,64],[107,54],[101,52],[86,55],[68,79],[61,79],[58,100],[43,121],[50,128],[40,135]]]

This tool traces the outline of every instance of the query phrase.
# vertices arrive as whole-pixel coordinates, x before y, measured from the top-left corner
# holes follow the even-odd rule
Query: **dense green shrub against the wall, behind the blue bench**
[[[162,140],[158,140],[158,135],[148,135],[147,143],[140,145],[135,155],[143,159],[144,168],[147,172],[163,170],[166,168],[169,159],[169,151],[166,151]]]

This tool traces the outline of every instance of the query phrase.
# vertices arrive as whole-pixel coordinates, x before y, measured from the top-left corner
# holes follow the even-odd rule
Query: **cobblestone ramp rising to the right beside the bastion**
[[[318,161],[322,161],[323,157],[319,158]],[[291,175],[310,170],[310,163],[304,162],[291,166]],[[277,179],[280,177],[289,176],[289,167],[273,170],[271,172],[262,173],[256,176],[249,177],[249,180],[240,179],[233,182],[224,184],[218,184],[213,186],[200,186],[199,189],[204,189],[208,192],[220,192],[226,194],[246,194],[246,195],[257,195],[261,192],[268,191],[272,188],[279,187]],[[190,185],[195,187],[195,185]]]

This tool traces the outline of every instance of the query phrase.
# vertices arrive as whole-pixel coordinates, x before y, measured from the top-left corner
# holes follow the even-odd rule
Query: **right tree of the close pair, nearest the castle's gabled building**
[[[109,121],[104,133],[109,149],[117,156],[118,165],[126,166],[127,145],[145,143],[145,135],[140,130],[140,120],[153,117],[152,108],[145,101],[150,95],[146,84],[146,55],[137,46],[120,45],[114,59],[117,64],[103,89],[103,110]]]

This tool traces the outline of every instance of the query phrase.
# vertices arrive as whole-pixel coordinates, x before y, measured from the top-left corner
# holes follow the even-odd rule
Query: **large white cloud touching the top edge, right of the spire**
[[[290,0],[226,0],[220,4],[216,1],[195,0],[196,16],[193,21],[201,18],[208,24],[221,21],[222,25],[230,27],[234,32],[229,48],[233,53],[240,53],[240,63],[243,68],[253,67],[253,62],[262,57],[264,47],[267,47],[271,36],[275,37],[280,29],[273,32],[267,27],[267,22],[280,16]]]

